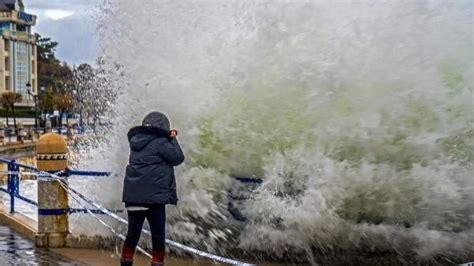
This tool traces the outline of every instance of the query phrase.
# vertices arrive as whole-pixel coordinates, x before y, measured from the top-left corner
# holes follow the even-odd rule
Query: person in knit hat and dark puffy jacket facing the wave
[[[133,265],[145,218],[152,235],[151,265],[164,265],[166,205],[177,204],[174,167],[184,162],[177,134],[161,112],[147,114],[142,125],[133,127],[127,134],[130,157],[122,201],[127,209],[128,230],[120,260],[122,266]]]

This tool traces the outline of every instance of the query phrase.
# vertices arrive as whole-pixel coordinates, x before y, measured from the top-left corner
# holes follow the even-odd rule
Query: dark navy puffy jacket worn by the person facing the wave
[[[122,201],[127,206],[174,204],[174,166],[184,161],[176,138],[169,131],[138,126],[128,132],[130,159],[126,169]]]

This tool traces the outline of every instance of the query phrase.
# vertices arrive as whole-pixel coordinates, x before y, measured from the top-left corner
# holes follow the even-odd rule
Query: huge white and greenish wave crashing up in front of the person
[[[472,258],[473,12],[111,1],[98,29],[125,89],[110,143],[83,164],[118,174],[107,202],[119,204],[126,131],[161,110],[187,154],[172,239],[277,259]],[[249,192],[231,176],[264,182]],[[245,223],[227,210],[235,194]]]

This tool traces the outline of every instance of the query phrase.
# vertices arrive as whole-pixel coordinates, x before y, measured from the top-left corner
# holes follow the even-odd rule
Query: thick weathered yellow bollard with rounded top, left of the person
[[[49,173],[67,168],[67,144],[58,134],[47,133],[36,144],[38,170]],[[60,183],[61,182],[61,183]],[[38,178],[37,247],[64,247],[69,234],[68,184],[58,180]]]

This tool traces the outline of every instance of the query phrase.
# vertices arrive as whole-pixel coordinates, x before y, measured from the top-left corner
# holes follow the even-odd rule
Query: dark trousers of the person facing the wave
[[[165,254],[165,205],[153,205],[145,211],[127,211],[128,231],[127,238],[123,244],[122,257],[133,258],[145,218],[151,229],[151,240],[153,244],[153,261],[162,262]],[[131,253],[131,254],[130,254]]]

